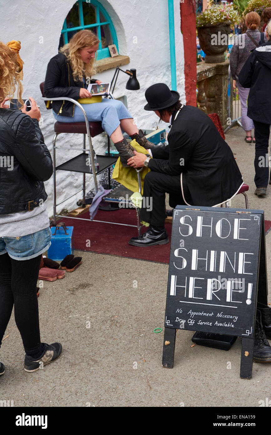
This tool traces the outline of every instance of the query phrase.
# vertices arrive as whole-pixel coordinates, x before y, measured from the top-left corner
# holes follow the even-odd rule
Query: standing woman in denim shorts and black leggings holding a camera
[[[53,164],[39,128],[35,100],[30,98],[30,111],[23,106],[20,43],[8,44],[0,42],[0,345],[14,305],[26,353],[24,369],[36,371],[62,351],[60,343],[40,342],[36,293],[41,256],[50,246],[43,181],[51,177]],[[15,85],[21,110],[5,104],[13,97]]]

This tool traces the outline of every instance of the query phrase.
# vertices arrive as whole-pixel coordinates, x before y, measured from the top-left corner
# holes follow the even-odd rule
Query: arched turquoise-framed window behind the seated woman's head
[[[108,45],[115,44],[118,50],[117,33],[104,7],[96,0],[78,0],[68,13],[61,30],[59,49],[67,44],[79,30],[90,29],[100,40],[97,59],[110,57]]]

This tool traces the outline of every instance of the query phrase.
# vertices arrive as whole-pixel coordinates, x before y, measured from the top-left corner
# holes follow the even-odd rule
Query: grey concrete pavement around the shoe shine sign
[[[254,147],[244,136],[241,127],[234,127],[226,141],[250,186],[249,207],[264,209],[271,220],[270,193],[265,199],[254,195]],[[232,207],[244,207],[244,197],[234,198]],[[12,315],[0,349],[6,366],[0,400],[26,407],[258,407],[260,400],[271,398],[270,364],[254,363],[251,380],[239,377],[240,338],[226,352],[191,348],[193,332],[177,331],[174,368],[161,366],[167,264],[82,251],[75,255],[83,257],[76,271],[63,280],[44,281],[40,289],[41,338],[60,341],[62,356],[43,370],[25,372]],[[269,262],[268,276],[270,283]],[[154,334],[159,327],[163,331]]]

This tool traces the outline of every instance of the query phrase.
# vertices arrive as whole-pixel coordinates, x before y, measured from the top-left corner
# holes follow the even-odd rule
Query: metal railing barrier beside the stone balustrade
[[[231,127],[234,127],[234,125],[239,124],[240,127],[242,127],[241,124],[241,102],[238,98],[238,88],[235,84],[234,89],[234,80],[231,77],[231,69],[229,67],[228,70],[228,92],[227,92],[227,124],[228,127],[224,130],[224,133],[228,131]]]

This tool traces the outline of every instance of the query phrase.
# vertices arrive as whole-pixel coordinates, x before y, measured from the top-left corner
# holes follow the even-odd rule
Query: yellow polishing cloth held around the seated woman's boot
[[[134,139],[131,141],[130,145],[139,153],[148,154],[145,148],[141,147],[137,141]],[[143,194],[144,178],[145,175],[150,172],[151,169],[148,167],[143,167],[142,171],[139,173],[141,178],[141,194]],[[137,171],[133,167],[123,167],[120,161],[120,157],[114,167],[112,178],[117,180],[120,184],[125,186],[132,192],[138,192],[138,181],[137,181]]]

